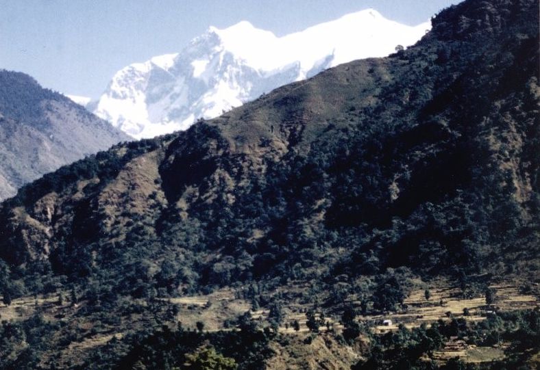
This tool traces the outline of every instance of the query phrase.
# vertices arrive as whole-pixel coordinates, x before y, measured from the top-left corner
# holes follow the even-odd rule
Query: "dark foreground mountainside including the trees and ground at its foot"
[[[0,364],[465,369],[434,354],[459,336],[505,343],[471,366],[532,367],[538,7],[464,1],[414,47],[26,185],[0,207]],[[532,303],[495,314],[495,284]],[[417,328],[380,335],[395,311]]]

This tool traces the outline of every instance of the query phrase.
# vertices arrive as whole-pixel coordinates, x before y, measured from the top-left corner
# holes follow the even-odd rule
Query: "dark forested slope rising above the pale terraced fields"
[[[75,289],[103,318],[224,287],[310,282],[377,312],[411,277],[534,278],[538,5],[465,1],[406,51],[23,187],[1,208],[3,289]]]

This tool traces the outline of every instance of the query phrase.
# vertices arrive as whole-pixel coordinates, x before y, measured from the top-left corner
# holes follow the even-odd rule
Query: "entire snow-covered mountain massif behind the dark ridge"
[[[133,137],[185,130],[286,83],[351,60],[413,44],[429,23],[408,27],[375,10],[276,37],[241,22],[210,27],[180,53],[127,66],[88,109]]]

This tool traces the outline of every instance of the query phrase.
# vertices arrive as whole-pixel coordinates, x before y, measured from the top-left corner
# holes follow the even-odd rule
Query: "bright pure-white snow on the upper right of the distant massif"
[[[430,25],[419,27],[424,32]],[[413,44],[419,38],[417,27],[389,21],[373,9],[347,14],[280,38],[247,21],[226,29],[210,27],[208,32],[219,37],[223,49],[249,66],[265,71],[294,62],[310,70],[332,53],[336,55],[332,66],[361,57],[382,57],[392,53],[397,44]]]

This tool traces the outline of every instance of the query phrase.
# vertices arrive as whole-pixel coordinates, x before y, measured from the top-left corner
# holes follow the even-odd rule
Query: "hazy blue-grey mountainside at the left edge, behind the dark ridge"
[[[130,137],[19,72],[0,70],[0,199]]]

